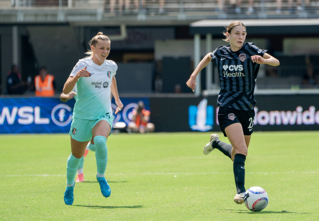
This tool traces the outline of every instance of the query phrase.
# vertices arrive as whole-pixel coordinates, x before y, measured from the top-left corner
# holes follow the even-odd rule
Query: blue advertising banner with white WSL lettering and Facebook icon
[[[148,98],[122,98],[123,110],[114,116],[113,124],[132,119],[138,101],[150,110]],[[0,133],[69,133],[75,100],[66,103],[59,98],[0,98]],[[117,105],[112,102],[112,111]]]

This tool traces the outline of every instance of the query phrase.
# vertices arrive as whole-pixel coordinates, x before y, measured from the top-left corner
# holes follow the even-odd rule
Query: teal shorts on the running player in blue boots
[[[92,128],[100,121],[105,120],[109,123],[112,130],[113,115],[105,114],[96,120],[86,120],[81,118],[73,118],[69,134],[72,139],[80,142],[90,141],[92,139]],[[110,132],[111,133],[111,132]]]

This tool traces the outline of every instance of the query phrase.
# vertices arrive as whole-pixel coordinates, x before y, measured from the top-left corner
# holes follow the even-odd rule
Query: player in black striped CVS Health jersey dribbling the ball
[[[278,66],[279,61],[267,54],[267,50],[258,48],[254,43],[246,43],[246,27],[240,21],[234,21],[226,27],[223,39],[229,46],[220,46],[208,53],[197,65],[187,86],[195,91],[196,76],[210,61],[216,61],[220,80],[220,92],[217,99],[219,126],[228,137],[230,144],[219,141],[218,134],[211,134],[209,143],[204,146],[204,154],[219,149],[233,163],[237,194],[234,202],[244,202],[246,191],[245,160],[253,124],[255,120],[254,89],[259,65]]]

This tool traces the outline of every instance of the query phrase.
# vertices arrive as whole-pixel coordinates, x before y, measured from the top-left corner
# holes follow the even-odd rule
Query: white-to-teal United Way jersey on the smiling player
[[[95,120],[106,113],[112,113],[111,84],[117,65],[111,60],[105,60],[102,65],[97,65],[91,57],[87,57],[78,61],[70,76],[74,77],[85,67],[91,73],[91,77],[81,77],[77,82],[78,97],[73,117]]]

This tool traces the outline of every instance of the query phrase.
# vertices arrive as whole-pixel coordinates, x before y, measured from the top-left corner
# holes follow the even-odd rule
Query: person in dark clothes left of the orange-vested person
[[[21,80],[18,65],[12,65],[7,77],[7,91],[9,95],[22,95],[26,82]]]

